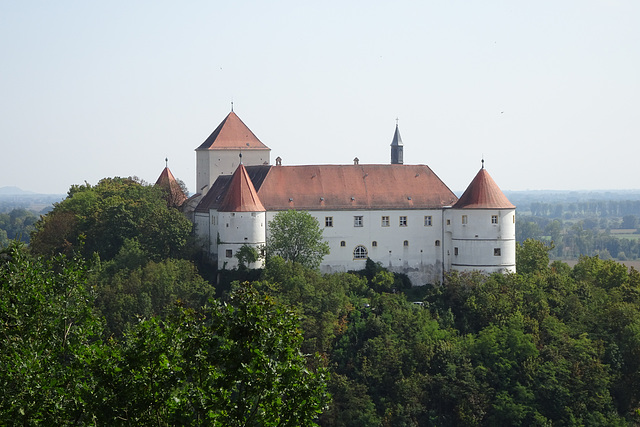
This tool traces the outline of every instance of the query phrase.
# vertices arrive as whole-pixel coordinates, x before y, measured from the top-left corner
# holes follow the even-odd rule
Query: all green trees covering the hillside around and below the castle
[[[517,274],[408,288],[272,256],[213,283],[163,200],[73,188],[0,251],[0,424],[640,423],[633,268],[528,239]]]

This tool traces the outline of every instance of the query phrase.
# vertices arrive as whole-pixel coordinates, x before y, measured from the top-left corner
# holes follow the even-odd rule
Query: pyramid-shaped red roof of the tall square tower
[[[268,150],[233,111],[196,150]]]

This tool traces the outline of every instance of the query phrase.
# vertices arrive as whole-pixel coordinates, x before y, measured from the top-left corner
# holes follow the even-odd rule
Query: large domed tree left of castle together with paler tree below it
[[[191,223],[156,186],[122,178],[73,186],[36,228],[34,253],[77,254],[93,263],[96,307],[115,336],[138,318],[164,316],[178,301],[197,308],[214,294],[184,259]]]

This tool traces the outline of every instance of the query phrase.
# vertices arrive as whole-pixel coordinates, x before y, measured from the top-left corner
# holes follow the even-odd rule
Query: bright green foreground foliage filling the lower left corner
[[[315,425],[323,370],[271,298],[243,286],[105,340],[88,281],[81,259],[0,252],[0,424]]]

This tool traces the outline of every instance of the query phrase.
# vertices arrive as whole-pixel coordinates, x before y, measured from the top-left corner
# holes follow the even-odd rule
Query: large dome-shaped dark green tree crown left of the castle
[[[191,223],[168,207],[163,190],[131,178],[105,178],[97,185],[74,185],[66,199],[36,223],[35,253],[80,251],[102,260],[118,254],[126,240],[137,240],[159,261],[190,250]]]

